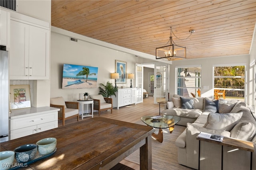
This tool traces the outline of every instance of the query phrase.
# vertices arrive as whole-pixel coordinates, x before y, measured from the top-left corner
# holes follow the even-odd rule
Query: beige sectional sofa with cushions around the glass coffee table
[[[168,108],[162,111],[164,115],[180,116],[182,122],[179,125],[187,127],[175,142],[179,164],[198,169],[199,140],[196,140],[196,136],[199,132],[208,132],[253,142],[255,152],[252,154],[252,170],[256,170],[256,120],[246,103],[188,97],[193,100],[194,107],[182,109],[182,102],[179,101],[180,105],[176,103],[179,97],[174,95],[176,99],[172,98],[166,104]],[[219,113],[214,113],[214,109]],[[221,145],[201,141],[200,146],[200,170],[220,170]],[[223,170],[249,169],[250,152],[223,147]]]

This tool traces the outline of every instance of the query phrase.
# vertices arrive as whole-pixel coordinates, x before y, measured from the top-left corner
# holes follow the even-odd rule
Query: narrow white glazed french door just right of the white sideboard
[[[136,64],[136,103],[143,102],[143,65]]]

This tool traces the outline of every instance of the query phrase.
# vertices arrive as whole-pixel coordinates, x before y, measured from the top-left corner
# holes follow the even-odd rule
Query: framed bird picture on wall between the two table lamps
[[[126,70],[127,70],[126,61],[116,60],[115,71],[116,73],[119,73],[119,79],[116,79],[116,83],[119,83],[119,84],[126,83],[126,76],[127,76]]]

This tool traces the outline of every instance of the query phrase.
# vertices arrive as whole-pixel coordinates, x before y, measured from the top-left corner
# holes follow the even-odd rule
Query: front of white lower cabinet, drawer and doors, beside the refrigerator
[[[43,132],[58,127],[58,110],[48,113],[33,113],[10,119],[10,139]]]

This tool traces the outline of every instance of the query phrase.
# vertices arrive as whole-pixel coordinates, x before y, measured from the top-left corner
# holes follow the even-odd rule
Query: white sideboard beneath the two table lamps
[[[118,89],[116,97],[112,96],[113,107],[127,106],[136,103],[136,88]]]

